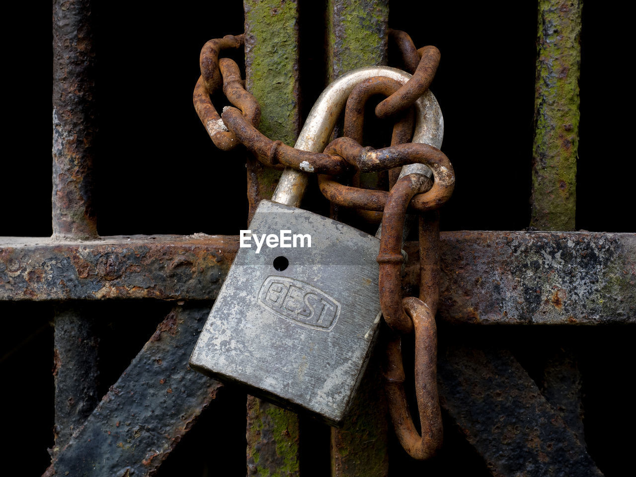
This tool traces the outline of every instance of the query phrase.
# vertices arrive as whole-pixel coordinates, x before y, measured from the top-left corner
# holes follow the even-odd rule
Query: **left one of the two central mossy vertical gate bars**
[[[259,130],[294,145],[299,129],[298,4],[295,0],[244,0],[245,85],[261,105]],[[280,170],[247,160],[249,219],[272,197]],[[247,474],[298,476],[298,415],[247,397]]]

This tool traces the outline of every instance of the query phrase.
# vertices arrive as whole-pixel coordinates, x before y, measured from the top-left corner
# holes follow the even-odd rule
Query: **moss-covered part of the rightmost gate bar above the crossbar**
[[[581,6],[539,0],[530,225],[540,230],[575,228]]]

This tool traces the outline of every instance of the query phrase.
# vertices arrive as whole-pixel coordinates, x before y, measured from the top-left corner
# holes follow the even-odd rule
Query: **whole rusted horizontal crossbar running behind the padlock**
[[[238,237],[0,237],[0,300],[215,298]],[[405,284],[418,281],[417,245]],[[481,324],[636,322],[636,234],[441,233],[439,315]],[[409,290],[410,291],[410,290]]]

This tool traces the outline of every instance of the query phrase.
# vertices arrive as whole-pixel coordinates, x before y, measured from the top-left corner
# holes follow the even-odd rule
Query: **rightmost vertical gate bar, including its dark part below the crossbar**
[[[539,1],[530,225],[540,230],[575,228],[582,7],[581,0]],[[571,349],[552,351],[542,392],[584,443],[581,373]]]

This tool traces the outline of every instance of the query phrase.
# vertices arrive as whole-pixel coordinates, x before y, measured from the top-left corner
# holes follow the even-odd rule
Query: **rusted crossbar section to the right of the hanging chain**
[[[407,252],[413,257],[417,253]],[[445,232],[440,252],[443,319],[480,324],[636,322],[636,234]]]

